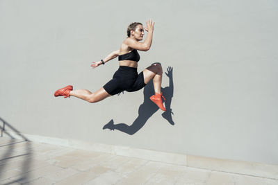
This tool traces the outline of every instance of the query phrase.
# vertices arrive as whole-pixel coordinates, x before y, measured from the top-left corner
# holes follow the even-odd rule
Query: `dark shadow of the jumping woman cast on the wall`
[[[172,115],[174,115],[174,113],[171,109],[171,102],[174,94],[173,68],[167,67],[167,73],[165,72],[165,74],[169,78],[169,86],[165,88],[161,87],[161,91],[163,93],[163,96],[165,97],[166,108],[166,111],[163,112],[161,116],[163,116],[163,118],[165,118],[171,125],[174,125],[174,121],[172,120]],[[129,135],[133,135],[138,132],[138,130],[140,130],[145,125],[145,123],[147,123],[147,120],[159,109],[157,105],[155,105],[149,99],[149,97],[151,97],[153,94],[154,84],[151,80],[144,88],[144,102],[138,109],[138,117],[135,119],[135,121],[133,121],[131,125],[127,125],[126,123],[114,124],[113,119],[111,119],[111,121],[104,125],[103,130],[119,130]]]

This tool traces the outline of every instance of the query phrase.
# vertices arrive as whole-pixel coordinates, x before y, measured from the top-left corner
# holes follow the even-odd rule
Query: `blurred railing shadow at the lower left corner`
[[[12,178],[10,181],[6,182],[5,185],[8,184],[16,184],[16,183],[21,183],[21,182],[28,182],[29,179],[29,173],[27,173],[30,169],[31,166],[31,161],[32,161],[32,147],[31,147],[31,142],[21,134],[15,127],[10,125],[7,121],[5,121],[3,118],[0,117],[0,121],[3,123],[3,126],[0,125],[0,130],[1,130],[1,137],[3,137],[3,134],[6,134],[8,138],[10,138],[9,143],[5,143],[4,145],[1,145],[0,148],[3,148],[2,151],[3,155],[1,155],[0,158],[0,184],[1,181],[3,182],[4,180]],[[10,130],[13,132],[13,134],[10,134],[6,129]],[[17,137],[17,139],[14,136]],[[15,151],[16,145],[18,143],[24,143],[24,154],[22,155],[13,155],[13,152]],[[3,173],[6,172],[6,168],[10,165],[10,160],[15,159],[16,157],[24,157],[22,159],[22,165],[19,166],[19,171],[21,174],[15,176],[15,177],[5,177]],[[12,161],[13,162],[13,161]],[[9,169],[8,169],[9,170]]]

